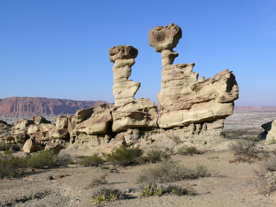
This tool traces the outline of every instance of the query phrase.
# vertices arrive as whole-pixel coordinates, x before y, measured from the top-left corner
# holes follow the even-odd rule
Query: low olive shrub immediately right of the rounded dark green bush
[[[139,158],[140,163],[157,163],[160,162],[161,159],[170,159],[170,156],[166,151],[158,150],[158,149],[150,149],[148,150],[146,156],[142,156]]]

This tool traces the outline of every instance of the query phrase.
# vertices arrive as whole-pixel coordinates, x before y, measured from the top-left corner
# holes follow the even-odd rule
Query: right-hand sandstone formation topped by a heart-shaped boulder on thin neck
[[[194,63],[172,65],[178,56],[172,49],[181,37],[181,29],[174,24],[155,27],[149,33],[150,45],[162,56],[159,127],[187,126],[232,115],[234,100],[239,98],[235,76],[226,69],[213,78],[198,80]]]

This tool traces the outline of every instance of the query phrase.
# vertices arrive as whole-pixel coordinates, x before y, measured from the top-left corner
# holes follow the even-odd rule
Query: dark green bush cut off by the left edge
[[[10,151],[0,153],[0,178],[18,177],[25,168],[25,160],[14,157]]]

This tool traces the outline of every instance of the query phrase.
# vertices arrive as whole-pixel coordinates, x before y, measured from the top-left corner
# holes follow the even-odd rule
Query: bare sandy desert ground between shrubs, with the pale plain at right
[[[225,120],[226,136],[232,139],[234,136],[258,135],[263,131],[260,125],[275,118],[276,112],[236,112]],[[263,146],[263,151],[274,149],[276,144]],[[89,149],[62,151],[70,153],[73,159],[92,154]],[[254,169],[259,167],[259,161],[230,163],[229,160],[234,158],[230,150],[213,150],[193,156],[171,155],[171,158],[184,165],[201,163],[209,168],[210,177],[176,182],[180,185],[190,183],[197,195],[143,198],[136,193],[128,193],[124,200],[105,206],[276,206],[276,193],[258,194],[250,183],[256,178]],[[72,164],[54,169],[29,170],[20,178],[0,180],[0,206],[90,206],[90,195],[99,187],[117,186],[121,190],[135,187],[137,174],[151,165],[154,164],[103,169]],[[93,178],[103,174],[108,174],[107,184],[88,187]],[[59,175],[64,177],[46,179]]]

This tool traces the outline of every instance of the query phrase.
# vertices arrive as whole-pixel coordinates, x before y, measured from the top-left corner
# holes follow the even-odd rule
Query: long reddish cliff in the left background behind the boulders
[[[69,99],[40,97],[11,97],[0,99],[0,116],[19,117],[40,115],[74,114],[76,110],[87,109],[105,101],[74,101]]]

